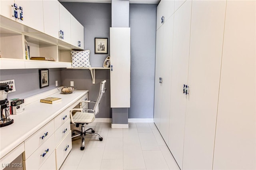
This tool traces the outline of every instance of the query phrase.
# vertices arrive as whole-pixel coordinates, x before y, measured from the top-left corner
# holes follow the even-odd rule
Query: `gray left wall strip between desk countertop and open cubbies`
[[[39,87],[39,71],[38,69],[6,69],[0,71],[0,81],[14,79],[16,91],[8,94],[8,99],[30,97],[38,93],[43,93],[50,89],[56,88],[55,81],[58,86],[61,82],[61,69],[49,69],[49,86]]]

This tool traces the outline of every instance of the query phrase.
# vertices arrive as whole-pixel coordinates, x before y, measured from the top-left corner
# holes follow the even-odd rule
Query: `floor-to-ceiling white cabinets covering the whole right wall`
[[[177,0],[157,24],[154,121],[182,170],[256,169],[255,3]]]

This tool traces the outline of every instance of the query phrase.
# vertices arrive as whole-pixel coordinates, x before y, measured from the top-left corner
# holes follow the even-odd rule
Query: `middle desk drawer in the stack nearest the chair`
[[[61,125],[54,133],[55,136],[55,146],[57,146],[60,141],[68,134],[70,131],[70,118],[68,117],[68,120]]]

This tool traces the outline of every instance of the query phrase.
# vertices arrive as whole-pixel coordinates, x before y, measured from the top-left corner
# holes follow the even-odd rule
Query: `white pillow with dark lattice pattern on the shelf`
[[[90,65],[90,50],[74,51],[71,50],[72,67],[91,67]]]

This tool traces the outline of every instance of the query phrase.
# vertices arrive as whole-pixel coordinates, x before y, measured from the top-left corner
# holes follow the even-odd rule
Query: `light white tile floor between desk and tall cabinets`
[[[128,129],[111,128],[110,123],[90,123],[103,137],[72,140],[72,150],[60,170],[179,170],[154,123],[129,123]]]

